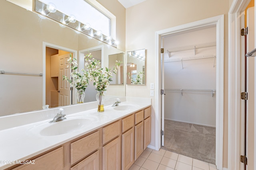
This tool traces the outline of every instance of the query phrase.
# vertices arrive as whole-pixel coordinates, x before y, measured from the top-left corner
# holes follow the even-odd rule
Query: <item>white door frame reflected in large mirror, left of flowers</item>
[[[44,106],[46,103],[46,77],[45,77],[45,74],[46,74],[46,47],[50,47],[50,48],[53,48],[53,49],[60,49],[60,50],[63,50],[63,51],[68,51],[70,53],[74,53],[74,58],[77,59],[77,51],[76,50],[73,50],[73,49],[68,49],[66,47],[61,47],[59,45],[55,45],[55,44],[51,44],[51,43],[47,43],[47,42],[44,42],[43,41],[43,105]],[[71,96],[72,99],[74,99],[74,94]],[[71,104],[71,98],[70,98],[70,104]],[[74,101],[74,100],[73,100]]]

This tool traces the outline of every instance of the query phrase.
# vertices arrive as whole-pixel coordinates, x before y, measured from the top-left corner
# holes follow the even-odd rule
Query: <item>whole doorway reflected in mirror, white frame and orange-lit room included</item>
[[[68,106],[74,103],[74,93],[63,75],[70,77],[67,59],[77,59],[77,51],[43,42],[43,106]]]

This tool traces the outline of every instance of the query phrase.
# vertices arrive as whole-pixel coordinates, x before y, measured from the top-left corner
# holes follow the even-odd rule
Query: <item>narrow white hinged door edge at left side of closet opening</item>
[[[161,48],[164,47],[164,37],[161,37]],[[164,146],[164,53],[161,52],[161,83],[162,83],[162,90],[161,90],[161,102],[162,102],[162,109],[161,109],[161,141],[162,146]]]

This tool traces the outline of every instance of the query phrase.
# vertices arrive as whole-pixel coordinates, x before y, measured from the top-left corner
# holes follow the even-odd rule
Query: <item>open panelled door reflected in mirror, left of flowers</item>
[[[70,54],[65,54],[59,56],[59,78],[58,78],[58,87],[59,87],[59,106],[67,106],[71,104],[71,90],[70,84],[67,81],[63,81],[63,75],[70,78],[70,67],[68,59]]]

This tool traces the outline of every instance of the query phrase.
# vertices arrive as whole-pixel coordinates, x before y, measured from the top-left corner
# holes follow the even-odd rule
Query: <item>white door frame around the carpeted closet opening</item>
[[[208,25],[216,25],[216,165],[222,170],[223,161],[223,112],[224,112],[224,15],[207,18],[176,27],[156,31],[156,150],[161,147],[161,94],[160,94],[160,47],[161,36],[196,29]]]

